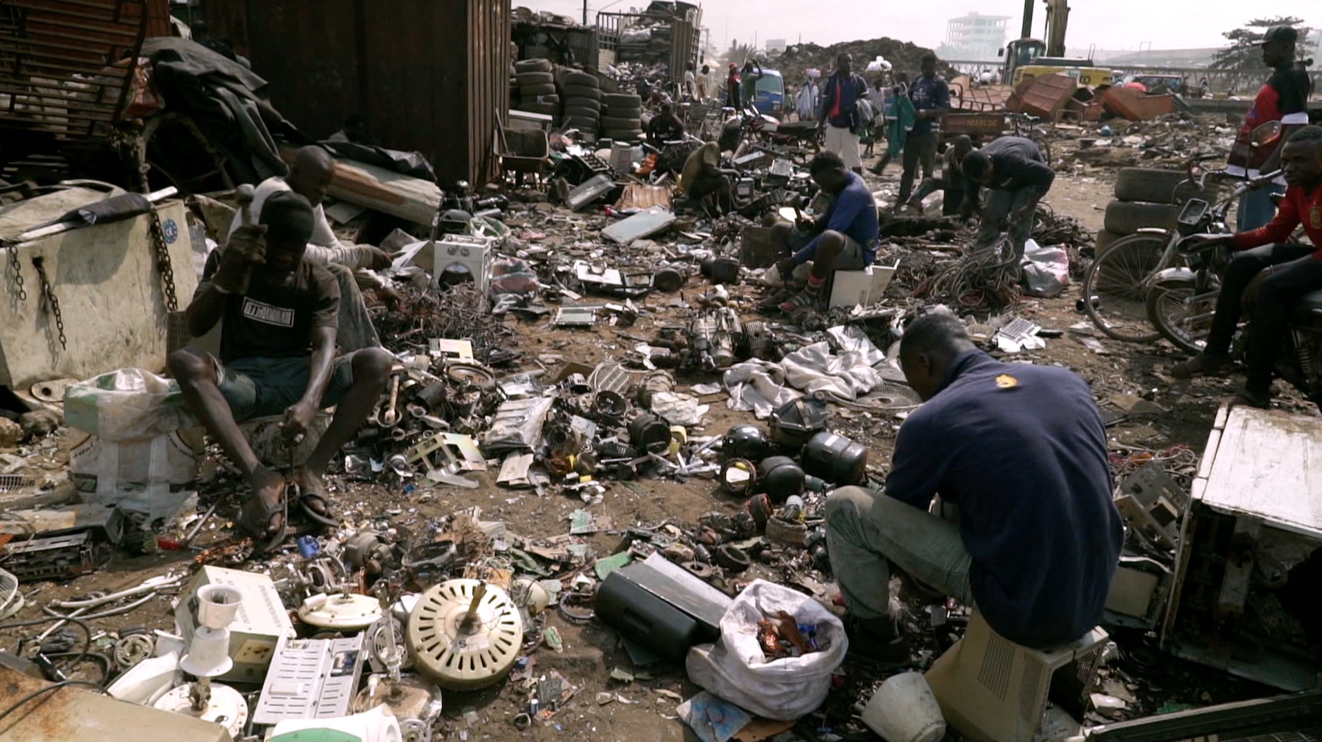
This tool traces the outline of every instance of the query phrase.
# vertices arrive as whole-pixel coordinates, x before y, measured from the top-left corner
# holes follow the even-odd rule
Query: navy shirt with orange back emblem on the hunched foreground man
[[[886,494],[960,510],[969,585],[1006,639],[1043,648],[1101,621],[1124,540],[1088,384],[969,350],[900,426]]]

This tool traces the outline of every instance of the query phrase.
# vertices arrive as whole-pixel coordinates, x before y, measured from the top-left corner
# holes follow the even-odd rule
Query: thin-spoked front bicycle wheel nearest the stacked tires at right
[[[1147,321],[1147,279],[1157,271],[1167,236],[1118,239],[1092,261],[1083,280],[1084,310],[1107,337],[1132,343],[1161,338]]]

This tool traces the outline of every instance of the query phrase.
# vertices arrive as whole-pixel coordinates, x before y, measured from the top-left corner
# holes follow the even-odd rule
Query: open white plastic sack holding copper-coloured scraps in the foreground
[[[767,661],[758,643],[758,622],[763,611],[781,610],[801,624],[817,626],[821,651]],[[685,669],[689,680],[748,712],[792,721],[822,705],[830,676],[845,661],[847,650],[845,626],[821,603],[789,588],[755,580],[720,618],[720,642],[689,650]]]

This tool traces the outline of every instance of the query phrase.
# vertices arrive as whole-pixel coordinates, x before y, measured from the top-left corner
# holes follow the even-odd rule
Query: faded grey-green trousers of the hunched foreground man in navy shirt
[[[945,506],[954,515],[953,506]],[[891,562],[919,582],[973,605],[973,557],[960,525],[862,487],[841,487],[826,499],[826,548],[849,613],[890,615]]]

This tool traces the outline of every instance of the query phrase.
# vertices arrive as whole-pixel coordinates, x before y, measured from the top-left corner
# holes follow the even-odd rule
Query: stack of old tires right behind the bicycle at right
[[[1215,201],[1212,186],[1199,193],[1191,184],[1181,185],[1187,177],[1185,170],[1121,168],[1116,177],[1116,201],[1107,206],[1105,228],[1097,232],[1097,255],[1138,230],[1173,228],[1183,203],[1195,195]]]

